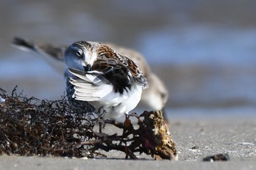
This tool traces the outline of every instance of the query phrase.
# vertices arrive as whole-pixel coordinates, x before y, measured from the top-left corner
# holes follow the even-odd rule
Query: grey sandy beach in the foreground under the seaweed
[[[170,119],[170,130],[179,161],[154,161],[148,155],[140,155],[138,161],[125,160],[124,154],[116,151],[106,153],[108,158],[97,159],[1,155],[0,169],[255,169],[255,118],[255,115],[174,116]],[[202,161],[218,153],[227,153],[230,161]]]

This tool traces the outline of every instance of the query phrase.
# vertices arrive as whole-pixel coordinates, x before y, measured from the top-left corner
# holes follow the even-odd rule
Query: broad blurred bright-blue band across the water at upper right
[[[141,53],[151,63],[227,66],[255,66],[256,63],[256,28],[191,25],[177,29],[167,26],[141,35],[140,45]]]

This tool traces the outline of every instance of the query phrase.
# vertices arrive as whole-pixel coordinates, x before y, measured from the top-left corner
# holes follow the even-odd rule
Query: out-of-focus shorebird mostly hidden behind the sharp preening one
[[[53,69],[56,69],[59,73],[64,72],[64,50],[67,45],[52,45],[49,43],[34,43],[15,37],[12,41],[12,45],[20,48],[21,50],[34,51],[40,54],[45,61],[47,61]],[[140,103],[146,105],[153,110],[162,110],[165,107],[168,98],[167,88],[162,80],[157,77],[154,72],[151,72],[148,63],[143,55],[135,50],[131,50],[125,47],[120,47],[110,43],[105,43],[117,53],[132,59],[143,72],[144,76],[148,80],[149,87],[143,90]]]

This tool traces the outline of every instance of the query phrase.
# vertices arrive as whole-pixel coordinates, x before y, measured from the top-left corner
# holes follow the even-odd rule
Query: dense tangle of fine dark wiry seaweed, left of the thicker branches
[[[3,90],[1,90],[3,92]],[[69,106],[66,98],[40,101],[37,98],[2,93],[0,104],[0,152],[7,155],[88,156],[88,146],[80,142],[95,140],[95,120]]]

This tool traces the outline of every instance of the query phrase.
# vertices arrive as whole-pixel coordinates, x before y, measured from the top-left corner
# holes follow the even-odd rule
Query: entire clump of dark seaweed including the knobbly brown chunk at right
[[[134,113],[118,123],[97,113],[81,113],[65,97],[59,101],[27,98],[17,94],[16,88],[12,96],[4,90],[0,95],[6,99],[0,103],[0,155],[99,158],[105,156],[101,150],[117,150],[132,159],[138,159],[136,152],[157,160],[178,159],[161,111]],[[99,132],[99,123],[105,129],[115,126],[122,133]]]

